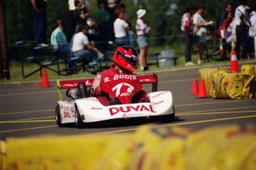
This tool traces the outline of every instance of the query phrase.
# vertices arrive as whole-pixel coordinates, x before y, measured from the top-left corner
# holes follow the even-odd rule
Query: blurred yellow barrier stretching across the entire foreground
[[[9,169],[256,169],[256,127],[229,124],[195,131],[140,126],[119,135],[7,138],[0,168]]]

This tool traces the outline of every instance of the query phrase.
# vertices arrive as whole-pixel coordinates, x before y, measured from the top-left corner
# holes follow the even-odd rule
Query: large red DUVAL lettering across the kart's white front
[[[118,106],[118,107],[111,107],[109,108],[109,112],[111,115],[116,115],[119,112],[122,112],[122,114],[127,112],[155,112],[151,105],[145,106],[145,105],[137,105],[137,106]]]

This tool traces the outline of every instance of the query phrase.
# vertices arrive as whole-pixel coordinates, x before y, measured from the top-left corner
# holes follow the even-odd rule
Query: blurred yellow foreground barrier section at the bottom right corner
[[[255,126],[214,126],[188,137],[186,169],[256,169]]]

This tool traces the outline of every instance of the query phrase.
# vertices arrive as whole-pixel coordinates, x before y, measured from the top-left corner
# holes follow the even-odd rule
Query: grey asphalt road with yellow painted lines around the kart
[[[227,123],[256,122],[256,98],[212,99],[195,98],[190,95],[192,79],[199,78],[198,69],[177,69],[157,72],[159,90],[170,90],[174,95],[176,118],[171,123],[154,122],[155,126],[183,126],[204,129]],[[59,99],[56,84],[42,88],[35,83],[5,84],[0,91],[0,140],[7,137],[30,137],[37,135],[75,135],[131,132],[138,124],[119,123],[93,126],[88,129],[59,128],[54,110]],[[145,89],[150,91],[150,86]],[[148,123],[143,121],[140,124]]]

